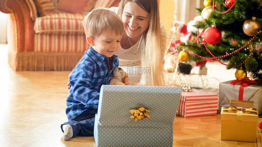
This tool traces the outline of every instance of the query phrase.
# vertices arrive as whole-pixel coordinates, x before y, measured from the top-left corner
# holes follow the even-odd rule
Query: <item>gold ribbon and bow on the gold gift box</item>
[[[236,110],[236,121],[242,121],[243,111],[250,112],[250,114],[257,115],[257,111],[253,110],[253,108],[242,108],[242,107],[228,107],[227,109],[223,109],[224,112],[230,113],[230,110]]]

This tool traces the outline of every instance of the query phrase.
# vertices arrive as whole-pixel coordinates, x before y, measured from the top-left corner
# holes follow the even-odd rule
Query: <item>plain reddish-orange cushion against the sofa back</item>
[[[58,10],[70,13],[80,13],[85,14],[90,12],[90,10],[94,7],[94,4],[97,0],[62,0],[59,2]]]

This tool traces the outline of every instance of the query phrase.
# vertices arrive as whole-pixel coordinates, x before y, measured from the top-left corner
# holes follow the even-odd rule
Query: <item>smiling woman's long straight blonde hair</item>
[[[165,49],[161,49],[160,16],[157,0],[122,0],[119,3],[118,15],[122,18],[124,6],[127,2],[135,2],[143,10],[150,13],[150,24],[148,29],[143,32],[141,41],[141,64],[142,69],[150,70],[143,72],[146,77],[143,85],[147,86],[165,86],[163,60]],[[163,41],[163,42],[162,42]]]

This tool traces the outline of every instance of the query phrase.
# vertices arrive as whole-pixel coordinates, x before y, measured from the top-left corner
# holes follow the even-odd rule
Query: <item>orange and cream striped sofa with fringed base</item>
[[[89,44],[83,15],[120,0],[0,0],[7,22],[8,61],[15,71],[72,70]]]

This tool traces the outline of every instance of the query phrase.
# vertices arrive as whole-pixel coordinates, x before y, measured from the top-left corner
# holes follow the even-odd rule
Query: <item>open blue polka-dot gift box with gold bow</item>
[[[97,147],[173,144],[181,87],[103,85],[95,117]]]

